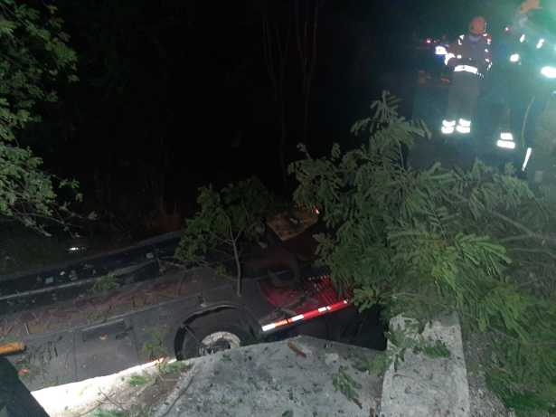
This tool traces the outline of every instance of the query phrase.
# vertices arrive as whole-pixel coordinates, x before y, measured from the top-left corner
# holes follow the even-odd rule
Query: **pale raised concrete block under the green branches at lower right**
[[[401,317],[394,317],[391,326],[406,328]],[[381,415],[469,417],[466,361],[457,317],[433,321],[423,336],[444,342],[450,357],[431,358],[407,351],[398,369],[392,364],[384,375]]]

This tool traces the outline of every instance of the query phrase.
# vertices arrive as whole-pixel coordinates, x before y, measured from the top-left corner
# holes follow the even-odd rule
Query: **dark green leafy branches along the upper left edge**
[[[57,203],[57,189],[77,189],[75,181],[42,171],[42,159],[17,142],[22,129],[40,121],[37,105],[57,100],[56,82],[77,81],[77,57],[56,11],[0,0],[0,216],[42,232],[45,219],[69,213]]]

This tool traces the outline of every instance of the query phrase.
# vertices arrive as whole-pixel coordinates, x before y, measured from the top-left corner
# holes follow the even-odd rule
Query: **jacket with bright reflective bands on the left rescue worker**
[[[465,71],[484,76],[492,65],[491,38],[488,33],[461,34],[448,46],[444,62],[455,72]]]

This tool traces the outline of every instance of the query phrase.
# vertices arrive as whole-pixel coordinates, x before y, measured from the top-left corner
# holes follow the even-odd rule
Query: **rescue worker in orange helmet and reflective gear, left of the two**
[[[444,62],[453,68],[453,75],[448,92],[448,111],[442,120],[441,132],[445,135],[471,133],[481,80],[492,64],[491,40],[485,29],[485,18],[474,17],[469,32],[460,35],[448,47]]]

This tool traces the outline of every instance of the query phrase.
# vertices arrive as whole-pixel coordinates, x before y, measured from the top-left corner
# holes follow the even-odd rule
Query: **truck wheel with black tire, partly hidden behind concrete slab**
[[[243,317],[232,310],[197,317],[188,324],[187,329],[182,344],[182,359],[245,346],[253,337]]]

